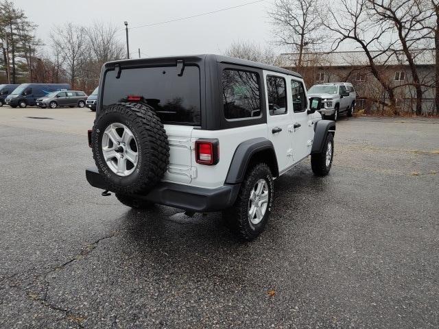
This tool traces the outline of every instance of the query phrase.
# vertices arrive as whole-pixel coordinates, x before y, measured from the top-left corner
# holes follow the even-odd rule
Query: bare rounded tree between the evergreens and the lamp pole
[[[52,47],[59,51],[71,88],[74,88],[84,61],[86,32],[84,27],[66,23],[54,28],[50,34]]]

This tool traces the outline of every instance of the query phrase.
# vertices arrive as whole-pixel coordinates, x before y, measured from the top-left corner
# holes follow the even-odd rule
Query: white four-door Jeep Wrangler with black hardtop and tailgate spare
[[[108,62],[88,134],[96,167],[86,178],[133,208],[222,210],[251,240],[272,211],[273,180],[309,155],[316,175],[329,173],[335,122],[319,108],[300,75],[248,60]]]

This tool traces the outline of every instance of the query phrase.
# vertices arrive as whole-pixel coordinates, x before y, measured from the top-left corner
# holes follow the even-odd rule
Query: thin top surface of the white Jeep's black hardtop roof
[[[164,62],[175,62],[176,60],[206,60],[208,58],[215,58],[215,60],[219,63],[228,63],[239,66],[247,66],[254,67],[256,69],[262,69],[266,71],[272,71],[277,73],[283,73],[287,75],[294,75],[295,77],[302,77],[299,73],[294,71],[290,71],[287,69],[282,69],[278,66],[262,64],[259,62],[253,62],[251,60],[241,60],[240,58],[234,58],[223,55],[214,55],[214,54],[202,54],[202,55],[182,55],[182,56],[165,56],[165,57],[156,57],[156,58],[136,58],[132,60],[115,60],[113,62],[108,62],[106,66],[112,66],[115,64],[129,64],[129,65],[141,65],[141,64],[154,64],[154,63],[164,63]]]

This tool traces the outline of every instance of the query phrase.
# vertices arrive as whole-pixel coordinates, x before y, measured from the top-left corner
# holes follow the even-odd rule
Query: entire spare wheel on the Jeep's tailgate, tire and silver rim
[[[169,164],[163,123],[143,103],[114,103],[99,110],[91,135],[93,158],[110,191],[147,193]]]

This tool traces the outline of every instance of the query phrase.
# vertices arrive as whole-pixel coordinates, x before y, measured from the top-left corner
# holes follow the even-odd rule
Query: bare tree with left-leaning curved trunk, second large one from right
[[[381,84],[389,101],[376,99],[377,103],[392,108],[396,114],[396,99],[394,88],[386,75],[385,66],[393,56],[390,49],[395,44],[391,38],[392,25],[388,22],[378,24],[371,19],[368,10],[368,0],[341,0],[342,8],[330,8],[330,20],[324,25],[333,33],[333,50],[340,47],[342,42],[351,41],[366,54],[368,67]],[[343,17],[343,19],[340,19]],[[381,51],[373,51],[381,49]]]

